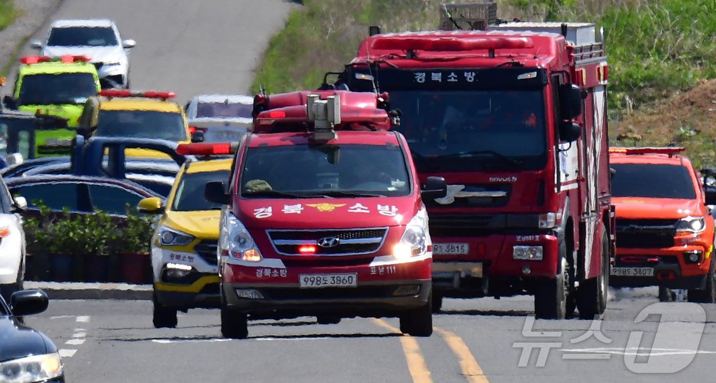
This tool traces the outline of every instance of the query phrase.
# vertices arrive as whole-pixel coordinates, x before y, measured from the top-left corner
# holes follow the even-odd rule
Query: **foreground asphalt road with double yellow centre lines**
[[[532,300],[526,296],[446,299],[429,338],[397,334],[395,319],[319,325],[299,318],[251,322],[249,339],[227,340],[217,310],[190,310],[177,329],[154,329],[149,301],[56,300],[26,321],[64,350],[68,382],[711,381],[716,305],[669,303],[659,315],[635,321],[654,303],[654,295],[620,294],[602,322],[531,324]],[[705,321],[695,320],[700,314]],[[609,344],[579,338],[598,329],[595,324]],[[627,346],[639,334],[642,339]],[[520,367],[519,343],[535,341],[547,345],[543,367],[538,347]]]

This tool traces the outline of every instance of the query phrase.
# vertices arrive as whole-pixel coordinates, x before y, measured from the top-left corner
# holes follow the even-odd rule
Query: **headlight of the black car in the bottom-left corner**
[[[0,363],[0,382],[32,383],[62,376],[59,354],[34,355]]]

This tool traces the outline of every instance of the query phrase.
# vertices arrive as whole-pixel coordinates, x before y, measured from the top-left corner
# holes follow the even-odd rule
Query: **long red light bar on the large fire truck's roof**
[[[422,51],[471,51],[478,49],[533,48],[529,37],[380,37],[373,40],[372,49],[400,49]]]

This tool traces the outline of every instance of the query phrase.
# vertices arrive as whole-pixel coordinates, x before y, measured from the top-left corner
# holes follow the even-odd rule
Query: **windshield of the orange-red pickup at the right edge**
[[[689,170],[682,165],[612,163],[613,197],[696,198]]]

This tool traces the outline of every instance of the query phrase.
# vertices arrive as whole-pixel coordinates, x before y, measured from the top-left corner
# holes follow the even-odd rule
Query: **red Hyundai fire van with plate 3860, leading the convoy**
[[[367,92],[292,92],[254,99],[253,132],[236,146],[218,240],[221,331],[247,319],[397,316],[432,334],[432,242],[423,198],[395,119]],[[193,144],[212,145],[212,144]],[[228,145],[221,150],[229,150]]]

